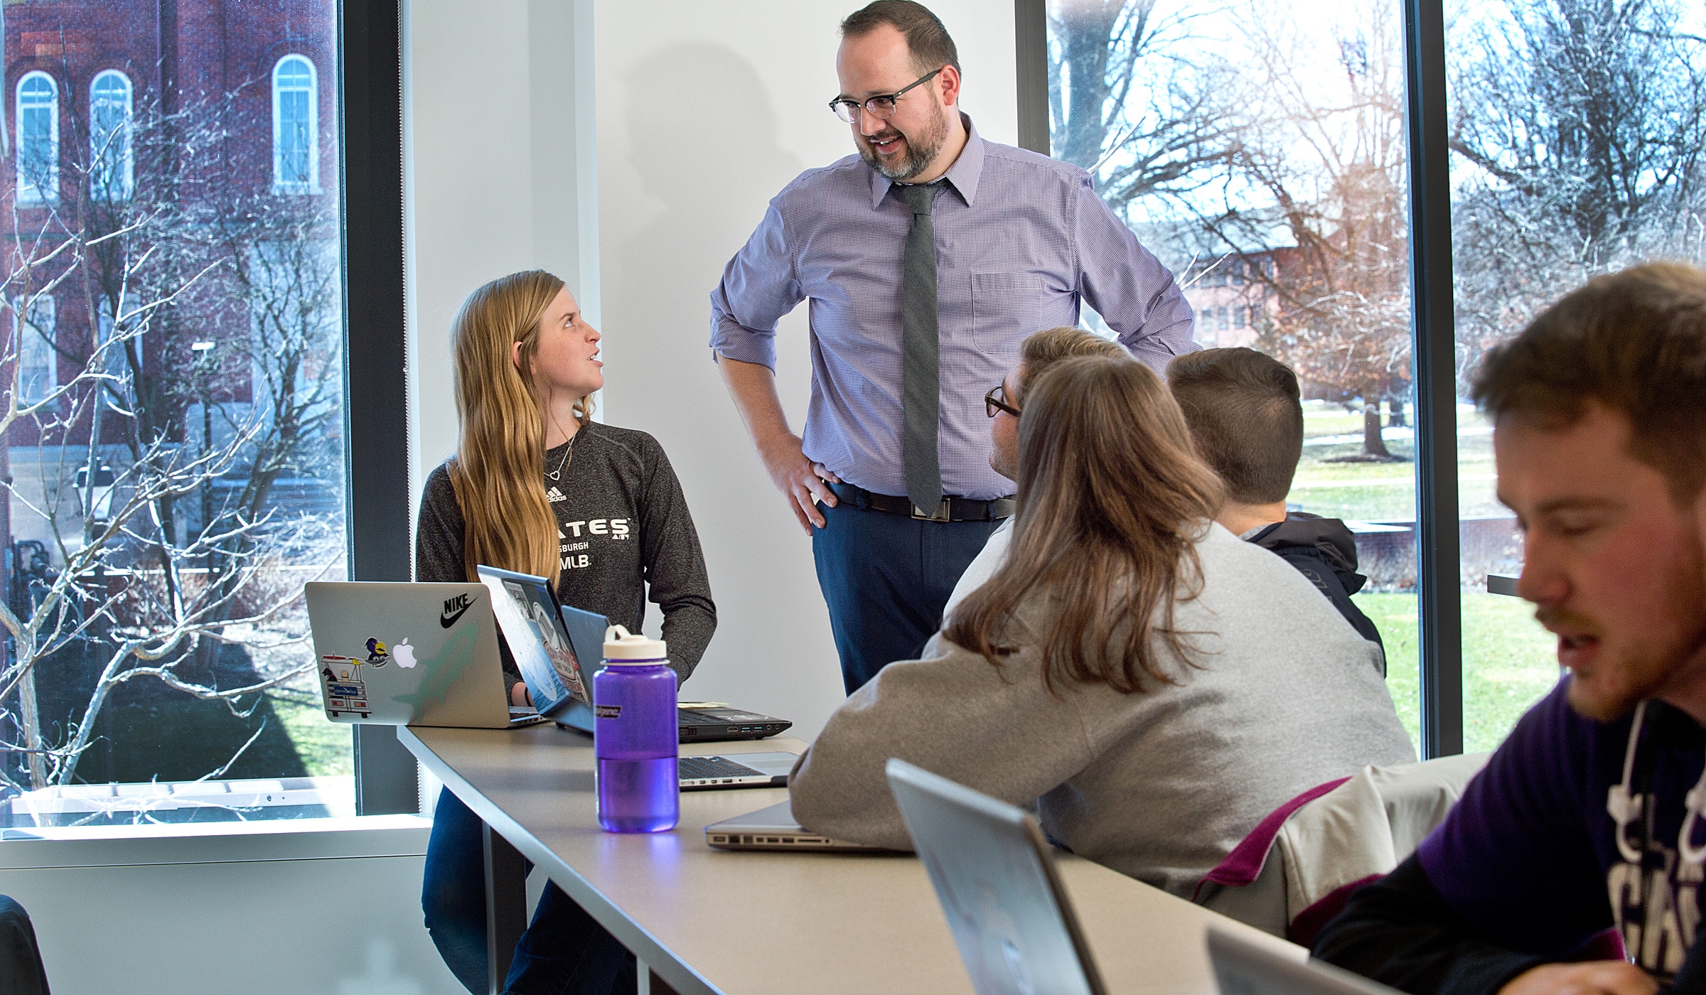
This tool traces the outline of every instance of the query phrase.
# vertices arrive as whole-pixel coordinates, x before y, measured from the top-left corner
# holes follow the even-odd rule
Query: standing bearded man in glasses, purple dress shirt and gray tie
[[[930,10],[879,0],[841,36],[834,109],[858,155],[804,172],[769,201],[711,294],[711,348],[764,468],[812,532],[851,693],[918,654],[960,572],[1012,514],[1010,481],[989,469],[984,393],[1017,364],[1018,343],[1076,324],[1087,302],[1155,370],[1196,345],[1172,273],[1085,171],[988,142],[960,114],[959,58]],[[908,188],[923,184],[937,184],[933,207],[909,207],[918,191]],[[920,478],[902,466],[902,435],[916,439],[902,379],[921,369],[916,338],[902,336],[918,321],[914,305],[902,316],[914,215],[933,224],[926,317],[937,331],[923,369],[940,384],[935,507],[906,497]],[[804,439],[781,411],[773,341],[802,300],[812,329]]]

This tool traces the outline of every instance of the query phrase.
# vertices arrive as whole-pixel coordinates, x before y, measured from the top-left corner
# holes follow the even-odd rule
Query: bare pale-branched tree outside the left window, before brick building
[[[145,97],[123,128],[80,121],[55,164],[75,198],[29,232],[14,208],[0,437],[34,425],[43,459],[36,486],[5,488],[14,515],[49,522],[51,563],[36,565],[20,604],[0,604],[14,647],[0,729],[17,734],[0,748],[27,758],[22,780],[0,768],[12,788],[73,783],[102,708],[130,681],[244,715],[312,667],[304,654],[223,688],[194,666],[220,643],[302,642],[276,623],[314,575],[281,582],[278,567],[341,556],[328,541],[334,512],[285,514],[275,500],[280,481],[341,469],[324,444],[341,411],[336,208],[229,183],[218,150],[235,106],[234,94],[176,111]],[[29,323],[41,300],[78,290],[87,338]],[[36,396],[26,358],[44,346],[77,372]],[[99,645],[104,662],[80,715],[49,729],[38,681],[73,643]]]

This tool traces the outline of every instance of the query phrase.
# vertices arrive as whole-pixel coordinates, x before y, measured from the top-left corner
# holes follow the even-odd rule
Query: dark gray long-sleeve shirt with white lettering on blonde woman
[[[548,451],[546,471],[566,452],[566,442]],[[640,631],[650,587],[664,609],[669,662],[686,681],[717,630],[717,604],[688,498],[664,447],[645,432],[594,422],[575,433],[573,459],[561,478],[548,474],[544,485],[563,565],[558,601]],[[467,580],[462,539],[462,509],[445,463],[426,478],[421,495],[415,579]],[[508,686],[520,681],[507,647],[503,671]]]

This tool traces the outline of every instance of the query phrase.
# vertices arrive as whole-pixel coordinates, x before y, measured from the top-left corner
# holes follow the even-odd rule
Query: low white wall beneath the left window
[[[317,823],[345,821],[9,840],[0,891],[29,911],[56,995],[459,995],[421,927],[426,823]]]

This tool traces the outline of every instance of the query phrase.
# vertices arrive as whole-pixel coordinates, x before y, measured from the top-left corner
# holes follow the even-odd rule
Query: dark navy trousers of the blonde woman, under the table
[[[531,865],[529,865],[531,870]],[[426,932],[471,995],[486,992],[486,858],[479,816],[450,788],[438,795],[426,876]],[[532,923],[515,944],[505,993],[624,995],[638,990],[635,956],[554,884],[544,886]]]

